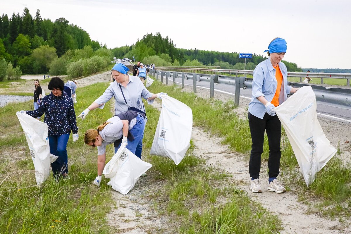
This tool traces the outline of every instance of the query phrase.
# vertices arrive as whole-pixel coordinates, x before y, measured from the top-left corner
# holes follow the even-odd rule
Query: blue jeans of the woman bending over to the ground
[[[138,114],[137,122],[135,123],[134,127],[130,130],[130,132],[134,136],[134,140],[128,140],[128,145],[126,146],[133,154],[135,154],[139,159],[141,159],[141,151],[143,150],[143,137],[144,137],[144,129],[145,129],[145,119],[143,116]],[[119,147],[114,147],[114,153],[117,153]]]

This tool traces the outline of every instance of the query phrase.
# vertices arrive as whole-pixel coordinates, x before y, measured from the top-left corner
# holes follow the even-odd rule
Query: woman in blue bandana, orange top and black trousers
[[[286,48],[284,39],[274,38],[268,49],[264,51],[267,52],[269,58],[259,63],[253,71],[252,98],[249,103],[248,119],[252,140],[249,162],[250,189],[254,193],[262,192],[259,173],[265,130],[269,144],[268,191],[276,193],[286,191],[277,181],[282,125],[274,110],[275,107],[286,100],[287,94],[293,94],[298,89],[287,85],[287,69],[281,62],[286,53]]]

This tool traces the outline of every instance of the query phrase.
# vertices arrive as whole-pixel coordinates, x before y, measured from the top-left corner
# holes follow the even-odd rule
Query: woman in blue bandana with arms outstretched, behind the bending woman
[[[148,104],[153,103],[155,98],[161,99],[165,93],[150,93],[141,82],[138,76],[129,75],[127,72],[129,68],[121,63],[117,63],[112,68],[112,76],[115,81],[110,83],[110,86],[105,90],[98,99],[96,99],[88,108],[86,108],[80,115],[77,116],[83,120],[86,118],[88,113],[96,108],[104,108],[105,103],[111,98],[115,99],[114,111],[115,115],[124,111],[135,111],[143,115],[143,119],[146,123],[147,118],[145,114],[145,106],[142,98],[146,99]],[[141,136],[141,139],[143,139]],[[143,141],[138,143],[135,150],[135,155],[141,159],[141,150],[143,148]],[[118,147],[115,147],[117,152]],[[103,160],[102,156],[98,156],[98,161]],[[101,176],[101,175],[98,175]],[[98,178],[98,177],[97,177]]]

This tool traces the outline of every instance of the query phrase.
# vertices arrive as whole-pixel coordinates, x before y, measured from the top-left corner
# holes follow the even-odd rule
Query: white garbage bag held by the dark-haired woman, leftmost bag
[[[37,185],[43,183],[50,174],[50,163],[58,156],[50,154],[47,124],[26,113],[16,113],[25,133],[29,151],[34,163],[35,180]]]

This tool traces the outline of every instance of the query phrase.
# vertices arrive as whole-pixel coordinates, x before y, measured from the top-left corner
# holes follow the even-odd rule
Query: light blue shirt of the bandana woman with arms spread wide
[[[102,94],[98,99],[95,100],[96,103],[101,105],[102,103],[106,103],[112,97],[116,100],[114,105],[114,113],[119,114],[121,112],[127,111],[128,106],[124,101],[121,89],[122,88],[124,97],[126,98],[128,106],[134,106],[139,110],[146,112],[145,107],[143,105],[143,101],[141,97],[144,99],[151,98],[152,93],[150,93],[144,86],[143,82],[137,76],[129,75],[129,82],[127,87],[120,85],[117,81],[113,81],[110,83],[110,86],[105,90],[104,94]],[[147,103],[151,104],[154,100],[147,100]],[[99,108],[104,108],[105,104]]]

